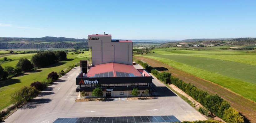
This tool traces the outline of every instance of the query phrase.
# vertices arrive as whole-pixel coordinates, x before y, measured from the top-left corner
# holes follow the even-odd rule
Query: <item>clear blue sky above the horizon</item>
[[[255,0],[1,0],[0,37],[256,37]]]

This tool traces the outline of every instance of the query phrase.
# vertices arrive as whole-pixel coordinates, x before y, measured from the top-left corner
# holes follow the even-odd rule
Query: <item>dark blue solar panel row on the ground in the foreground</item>
[[[58,118],[53,123],[170,123],[180,122],[175,116],[120,116]]]

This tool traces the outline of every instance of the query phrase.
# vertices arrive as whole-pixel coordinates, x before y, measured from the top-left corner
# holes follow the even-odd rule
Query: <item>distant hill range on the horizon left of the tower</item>
[[[42,38],[0,38],[0,49],[32,49],[32,48],[75,48],[87,47],[87,39],[64,37]]]

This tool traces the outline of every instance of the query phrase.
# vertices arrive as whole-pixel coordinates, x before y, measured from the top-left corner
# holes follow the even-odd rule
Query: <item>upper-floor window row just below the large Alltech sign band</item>
[[[114,86],[147,86],[148,83],[128,83],[128,84],[81,84],[80,87],[114,87]]]

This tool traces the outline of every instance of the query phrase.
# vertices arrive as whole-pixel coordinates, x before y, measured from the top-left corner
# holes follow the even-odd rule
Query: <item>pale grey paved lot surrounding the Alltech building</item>
[[[47,123],[58,118],[116,116],[175,116],[180,121],[206,120],[156,78],[153,79],[156,99],[75,102],[72,96],[79,71],[80,68],[76,67],[62,76],[36,99],[9,116],[5,123]]]

